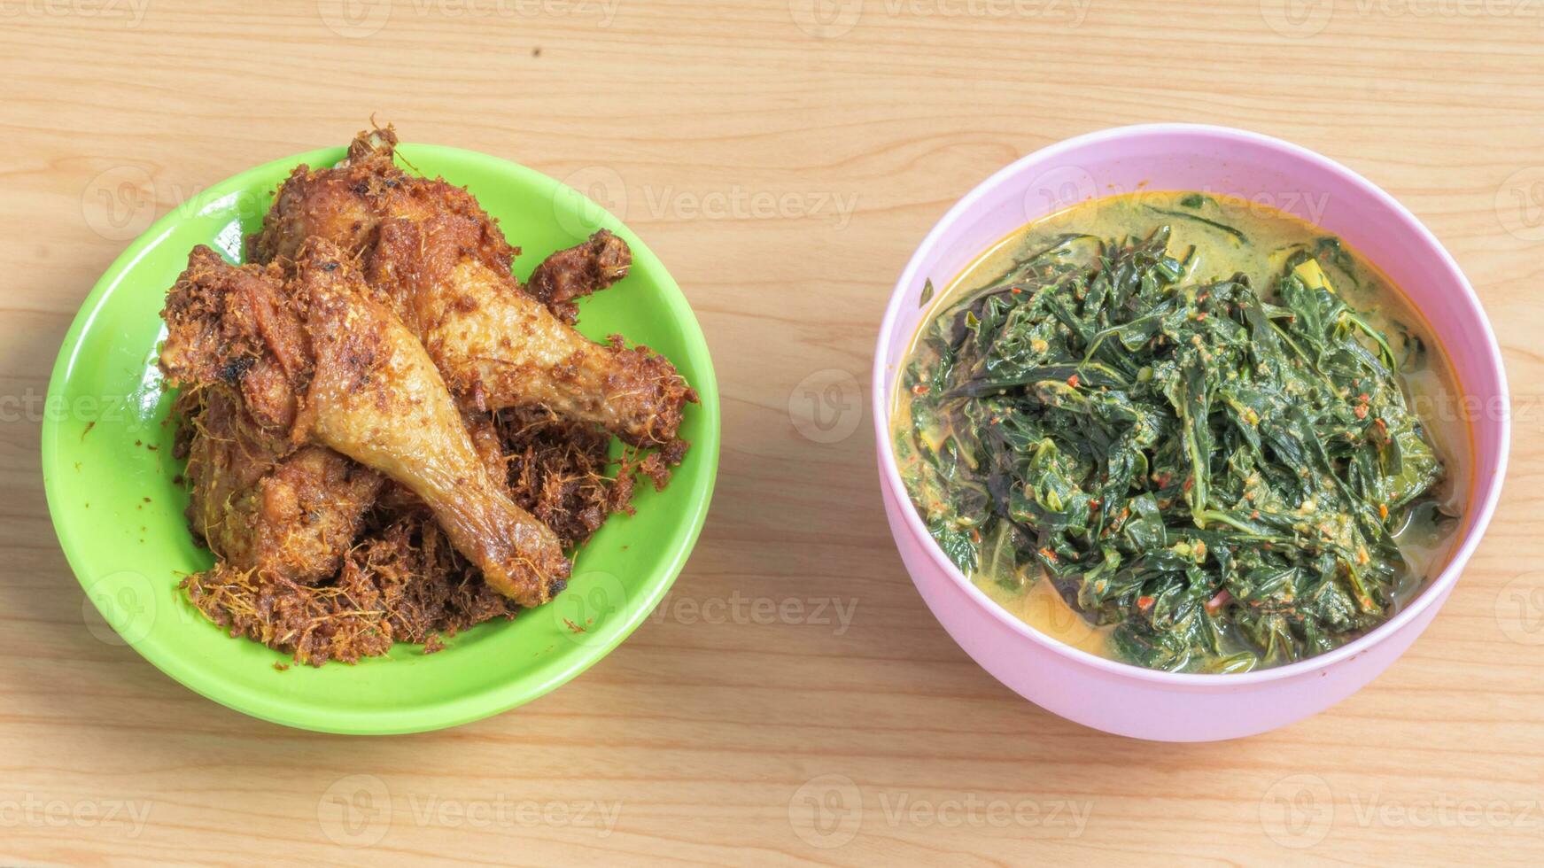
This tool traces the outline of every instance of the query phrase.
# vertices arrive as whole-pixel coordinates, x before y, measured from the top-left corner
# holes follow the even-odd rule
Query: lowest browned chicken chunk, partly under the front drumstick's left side
[[[317,584],[354,545],[383,477],[323,446],[292,449],[225,383],[178,398],[199,436],[187,445],[188,524],[238,571]]]

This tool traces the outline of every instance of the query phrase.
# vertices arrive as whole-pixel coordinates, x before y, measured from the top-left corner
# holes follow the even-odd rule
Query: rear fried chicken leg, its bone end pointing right
[[[537,269],[539,300],[510,272],[516,250],[477,201],[397,168],[395,141],[389,128],[361,133],[344,164],[296,168],[253,241],[256,258],[332,241],[358,256],[375,298],[423,341],[465,409],[540,406],[679,460],[681,409],[696,395],[670,361],[570,326],[573,298],[625,273],[627,246],[605,233],[556,253]]]

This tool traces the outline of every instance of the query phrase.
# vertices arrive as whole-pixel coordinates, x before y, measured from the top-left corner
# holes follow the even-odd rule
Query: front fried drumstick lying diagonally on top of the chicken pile
[[[162,318],[161,363],[174,383],[227,385],[264,431],[287,423],[296,449],[330,448],[412,490],[516,602],[562,588],[570,564],[557,536],[489,474],[429,355],[369,298],[343,250],[312,241],[287,267],[264,269],[196,249]]]

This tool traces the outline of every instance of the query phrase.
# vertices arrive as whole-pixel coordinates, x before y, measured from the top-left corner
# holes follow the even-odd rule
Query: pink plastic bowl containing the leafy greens
[[[1431,585],[1387,624],[1329,653],[1240,675],[1141,669],[1053,639],[977,590],[933,542],[896,470],[889,414],[925,281],[946,286],[991,242],[1076,202],[1138,188],[1232,195],[1322,225],[1380,266],[1433,327],[1464,392],[1473,487],[1464,537]],[[874,358],[874,425],[885,513],[913,582],[965,653],[999,681],[1084,726],[1161,741],[1237,738],[1349,697],[1425,630],[1490,524],[1510,431],[1501,351],[1453,256],[1403,205],[1343,165],[1280,139],[1189,124],[1121,127],[1039,150],[960,199],[896,284]]]

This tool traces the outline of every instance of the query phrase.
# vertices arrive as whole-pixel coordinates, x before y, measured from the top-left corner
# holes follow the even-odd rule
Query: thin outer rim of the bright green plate
[[[157,218],[145,232],[128,242],[124,252],[119,253],[107,270],[102,272],[102,276],[99,276],[96,284],[93,284],[91,292],[86,293],[85,300],[82,300],[80,307],[76,310],[76,315],[60,341],[59,355],[54,360],[54,366],[48,378],[46,394],[59,394],[63,388],[69,371],[83,349],[82,334],[85,332],[85,327],[102,312],[108,295],[124,280],[124,273],[133,269],[150,249],[161,242],[165,233],[171,232],[176,224],[188,216],[201,215],[208,207],[219,205],[222,199],[232,195],[242,195],[245,190],[258,184],[255,178],[261,178],[276,170],[287,173],[290,168],[301,164],[330,164],[335,162],[344,150],[346,148],[343,147],[315,148],[241,170],[236,175],[199,190],[185,204],[181,204]],[[681,575],[681,570],[686,567],[692,550],[696,547],[696,541],[701,536],[703,525],[707,519],[713,499],[713,490],[718,480],[723,420],[720,417],[718,377],[713,369],[707,338],[704,337],[701,323],[698,323],[696,314],[692,310],[692,306],[687,301],[686,293],[681,292],[675,276],[670,275],[669,269],[665,269],[664,263],[642,241],[642,238],[582,192],[577,192],[562,181],[537,171],[536,168],[494,154],[452,145],[401,142],[398,144],[398,150],[406,150],[409,153],[434,153],[446,161],[479,164],[486,170],[527,176],[534,184],[550,188],[554,195],[567,193],[576,196],[576,201],[588,202],[590,207],[594,209],[593,212],[587,210],[587,213],[594,218],[590,219],[590,222],[611,229],[627,239],[633,250],[635,264],[647,264],[656,275],[655,280],[659,281],[661,289],[664,290],[664,307],[676,318],[678,326],[684,332],[682,337],[687,352],[696,357],[693,361],[701,369],[701,375],[698,377],[699,381],[693,381],[692,388],[696,391],[699,400],[696,412],[703,414],[703,434],[692,443],[692,448],[698,449],[703,456],[703,482],[698,483],[699,490],[692,493],[693,496],[689,500],[689,508],[681,514],[679,524],[686,525],[686,533],[682,534],[679,544],[669,551],[664,559],[664,567],[658,571],[656,578],[645,585],[644,593],[628,596],[628,610],[624,612],[624,616],[616,621],[618,627],[611,630],[604,641],[573,646],[573,650],[570,650],[570,659],[562,666],[551,667],[545,678],[539,681],[527,681],[522,676],[522,672],[516,669],[505,683],[472,695],[455,697],[431,706],[406,710],[392,709],[391,712],[354,712],[350,709],[318,710],[275,698],[270,693],[247,690],[239,684],[221,678],[218,673],[205,672],[198,666],[198,661],[182,656],[182,653],[176,650],[174,643],[153,641],[153,635],[145,636],[141,641],[127,643],[142,658],[150,661],[173,681],[207,700],[258,720],[312,732],[338,735],[400,735],[449,729],[523,706],[525,703],[567,684],[622,644],[622,641],[625,641],[633,630],[636,630],[648,618],[655,607],[659,605],[659,601],[670,592],[676,578]],[[96,605],[97,602],[91,596],[91,587],[86,584],[86,576],[82,575],[82,565],[85,564],[83,547],[88,533],[79,527],[62,524],[59,519],[62,514],[62,504],[57,500],[60,494],[56,493],[52,471],[60,460],[57,453],[60,425],[60,420],[45,417],[40,429],[43,493],[48,502],[49,519],[54,525],[54,533],[59,539],[60,550],[65,554],[65,561],[69,564],[69,570],[76,576],[76,581],[86,592],[86,598],[93,599],[93,604]],[[111,619],[108,619],[108,624],[111,624]],[[367,666],[369,663],[371,661],[367,659],[360,661],[360,666]]]

